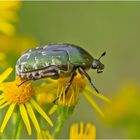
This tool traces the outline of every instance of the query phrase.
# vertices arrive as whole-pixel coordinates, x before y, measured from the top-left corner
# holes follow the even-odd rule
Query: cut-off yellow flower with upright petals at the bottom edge
[[[75,123],[70,127],[70,139],[95,139],[96,128],[93,124],[88,123],[84,126],[83,122]]]

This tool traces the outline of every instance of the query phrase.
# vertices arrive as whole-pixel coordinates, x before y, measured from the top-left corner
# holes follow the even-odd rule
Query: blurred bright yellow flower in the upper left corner
[[[13,35],[15,27],[12,24],[17,21],[16,12],[20,7],[20,1],[0,1],[0,32]]]

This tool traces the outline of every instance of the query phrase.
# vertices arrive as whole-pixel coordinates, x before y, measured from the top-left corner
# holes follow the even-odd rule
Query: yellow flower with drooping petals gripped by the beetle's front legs
[[[65,87],[69,79],[70,77],[59,78],[58,80],[51,80],[51,79],[48,80],[49,82],[46,83],[46,85],[44,84],[44,87],[46,89],[46,94],[53,95],[55,96],[55,98],[59,97],[58,99],[59,105],[70,107],[70,106],[75,106],[78,103],[79,95],[82,93],[85,96],[85,98],[89,101],[89,103],[92,105],[92,107],[94,107],[101,116],[104,116],[103,112],[95,103],[91,94],[107,102],[110,102],[110,100],[106,98],[105,96],[103,96],[102,94],[96,93],[92,89],[92,87],[89,85],[89,81],[84,76],[80,75],[79,73],[77,73],[76,77],[74,78],[72,82],[72,85],[70,86],[67,94],[65,95]],[[43,98],[44,92],[40,94],[43,94],[43,95],[40,95],[40,97],[42,96]],[[38,102],[45,103],[44,100],[46,100],[46,102],[48,101],[50,102],[50,96],[47,96],[47,95],[43,99],[38,98]],[[53,102],[54,99],[52,99],[51,102]]]

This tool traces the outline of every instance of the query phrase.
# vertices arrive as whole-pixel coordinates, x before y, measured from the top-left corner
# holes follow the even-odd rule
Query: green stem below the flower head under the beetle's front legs
[[[59,116],[56,122],[56,127],[53,132],[53,138],[57,138],[59,132],[61,131],[66,119],[63,116]]]

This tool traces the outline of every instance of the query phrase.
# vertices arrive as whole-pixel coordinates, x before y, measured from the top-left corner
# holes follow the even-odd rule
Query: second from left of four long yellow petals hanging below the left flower
[[[25,124],[25,126],[27,128],[28,134],[31,135],[32,130],[31,130],[31,126],[30,126],[30,122],[29,122],[29,118],[28,118],[25,106],[23,104],[20,104],[19,109],[20,109],[21,117],[22,117],[22,119],[24,121],[24,124]]]

